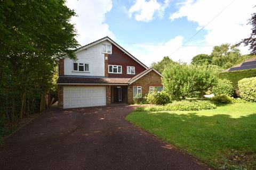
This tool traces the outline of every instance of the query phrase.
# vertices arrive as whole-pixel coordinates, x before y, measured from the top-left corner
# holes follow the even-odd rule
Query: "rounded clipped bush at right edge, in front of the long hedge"
[[[256,77],[239,80],[238,89],[242,99],[256,102]]]

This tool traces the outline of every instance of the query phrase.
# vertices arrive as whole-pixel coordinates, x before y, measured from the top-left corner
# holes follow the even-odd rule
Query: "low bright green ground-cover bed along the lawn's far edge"
[[[139,107],[135,109],[135,111],[201,111],[214,108],[216,108],[216,105],[208,100],[182,100],[175,101],[165,106]]]

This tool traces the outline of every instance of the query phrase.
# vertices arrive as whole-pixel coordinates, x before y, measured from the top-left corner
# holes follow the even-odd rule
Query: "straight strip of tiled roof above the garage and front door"
[[[107,78],[92,76],[62,75],[58,83],[110,83],[110,84],[128,84],[131,78]]]

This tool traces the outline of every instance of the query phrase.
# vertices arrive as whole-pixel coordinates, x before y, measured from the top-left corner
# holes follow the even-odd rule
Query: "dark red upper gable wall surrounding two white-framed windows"
[[[112,44],[112,54],[108,57],[109,65],[122,65],[122,74],[111,74],[108,73],[108,77],[111,78],[132,78],[135,75],[146,70],[145,67],[140,65],[138,62],[133,60],[127,54],[125,54],[121,49],[117,48]],[[135,74],[127,74],[127,66],[135,66]]]

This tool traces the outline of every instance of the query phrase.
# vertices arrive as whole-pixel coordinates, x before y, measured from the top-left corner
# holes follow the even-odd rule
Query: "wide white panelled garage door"
[[[64,87],[63,107],[90,107],[106,105],[106,87]]]

